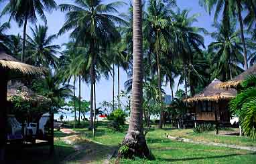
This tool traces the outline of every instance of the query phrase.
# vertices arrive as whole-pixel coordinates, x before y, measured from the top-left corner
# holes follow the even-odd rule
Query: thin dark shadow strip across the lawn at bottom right
[[[160,160],[168,161],[168,162],[175,162],[175,161],[193,161],[193,160],[200,160],[200,159],[219,159],[219,158],[226,158],[226,157],[234,157],[239,155],[255,155],[255,153],[247,153],[247,154],[229,154],[229,155],[216,155],[211,157],[191,157],[191,158],[181,158],[181,159],[164,159],[161,158]]]

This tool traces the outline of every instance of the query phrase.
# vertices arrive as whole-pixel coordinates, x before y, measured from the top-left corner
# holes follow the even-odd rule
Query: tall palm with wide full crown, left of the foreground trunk
[[[123,3],[117,1],[103,4],[99,0],[76,1],[76,5],[62,4],[60,9],[68,11],[67,20],[60,29],[59,34],[73,29],[70,37],[75,38],[82,46],[88,45],[88,59],[90,59],[90,111],[93,107],[93,86],[95,84],[95,65],[99,59],[101,49],[110,43],[118,41],[120,35],[115,24],[124,23],[123,20],[112,13],[119,13],[117,7]],[[96,104],[96,102],[95,102]],[[92,117],[91,117],[92,119]],[[92,120],[91,120],[92,121]]]

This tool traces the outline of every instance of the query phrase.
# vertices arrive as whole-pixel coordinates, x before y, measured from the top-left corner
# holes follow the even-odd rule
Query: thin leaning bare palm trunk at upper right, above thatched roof
[[[245,35],[243,31],[243,17],[241,13],[241,0],[237,0],[237,9],[238,9],[238,17],[239,17],[239,25],[240,25],[240,31],[241,31],[241,39],[243,43],[243,53],[244,53],[244,60],[245,60],[245,70],[248,69],[248,61],[247,61],[247,49],[245,44]]]

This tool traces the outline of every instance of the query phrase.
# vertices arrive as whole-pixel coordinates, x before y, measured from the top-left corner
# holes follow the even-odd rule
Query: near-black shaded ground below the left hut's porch
[[[11,164],[58,164],[75,149],[69,146],[55,145],[54,153],[50,154],[50,146],[35,147],[7,147],[5,153],[6,163]]]

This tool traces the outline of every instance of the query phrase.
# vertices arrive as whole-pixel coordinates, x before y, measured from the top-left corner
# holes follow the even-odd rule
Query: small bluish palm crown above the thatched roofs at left
[[[56,39],[56,35],[48,36],[47,26],[35,26],[34,29],[30,27],[32,37],[27,35],[27,57],[26,61],[38,67],[48,67],[49,65],[54,68],[57,67],[59,53],[59,45],[51,45]]]

